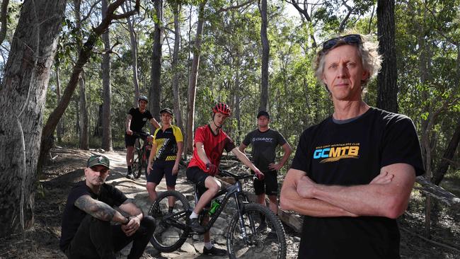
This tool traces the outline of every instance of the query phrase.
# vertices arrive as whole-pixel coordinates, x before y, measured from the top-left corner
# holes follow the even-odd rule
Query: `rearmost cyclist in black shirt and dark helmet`
[[[142,132],[147,120],[154,125],[157,129],[160,127],[159,123],[151,115],[150,111],[147,110],[147,103],[149,99],[146,96],[141,96],[138,99],[139,108],[131,108],[126,117],[126,134],[125,134],[125,146],[126,146],[126,164],[128,166],[128,172],[126,178],[131,178],[132,175],[132,159],[134,159],[134,143],[136,142],[137,136],[133,136],[132,132]]]

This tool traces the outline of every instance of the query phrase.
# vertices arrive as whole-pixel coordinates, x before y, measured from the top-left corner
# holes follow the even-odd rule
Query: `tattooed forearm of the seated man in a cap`
[[[110,207],[104,202],[94,200],[90,195],[83,195],[79,197],[76,199],[74,205],[96,219],[103,221],[115,221],[122,224],[129,222],[127,221],[129,219],[123,216],[120,212],[117,212],[117,210],[113,209],[113,207]]]

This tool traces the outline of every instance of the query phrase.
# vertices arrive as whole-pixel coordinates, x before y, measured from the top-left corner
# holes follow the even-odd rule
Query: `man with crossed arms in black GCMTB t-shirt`
[[[367,36],[345,35],[317,54],[334,113],[301,135],[280,197],[305,215],[299,258],[400,258],[396,218],[424,171],[412,120],[362,100],[380,68],[376,50]]]

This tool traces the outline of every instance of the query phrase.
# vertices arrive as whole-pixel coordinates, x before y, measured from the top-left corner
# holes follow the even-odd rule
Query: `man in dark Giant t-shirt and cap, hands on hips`
[[[286,139],[276,130],[270,129],[270,115],[265,110],[260,110],[257,115],[258,129],[249,132],[239,146],[239,150],[244,149],[252,144],[253,163],[260,171],[263,171],[265,178],[263,180],[254,180],[254,191],[257,195],[258,203],[265,206],[265,193],[270,200],[270,209],[273,213],[278,214],[278,182],[277,171],[279,171],[289,159],[292,152],[291,146]],[[282,146],[284,156],[279,163],[275,163],[276,148]],[[260,229],[266,227],[265,220],[262,221]]]

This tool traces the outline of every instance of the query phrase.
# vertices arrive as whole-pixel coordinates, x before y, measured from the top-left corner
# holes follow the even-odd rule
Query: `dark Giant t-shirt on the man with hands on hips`
[[[243,144],[246,146],[252,144],[253,163],[263,172],[270,171],[268,165],[275,163],[276,147],[282,146],[284,143],[286,143],[286,139],[282,137],[280,132],[273,129],[268,129],[265,132],[255,129],[243,139]]]

